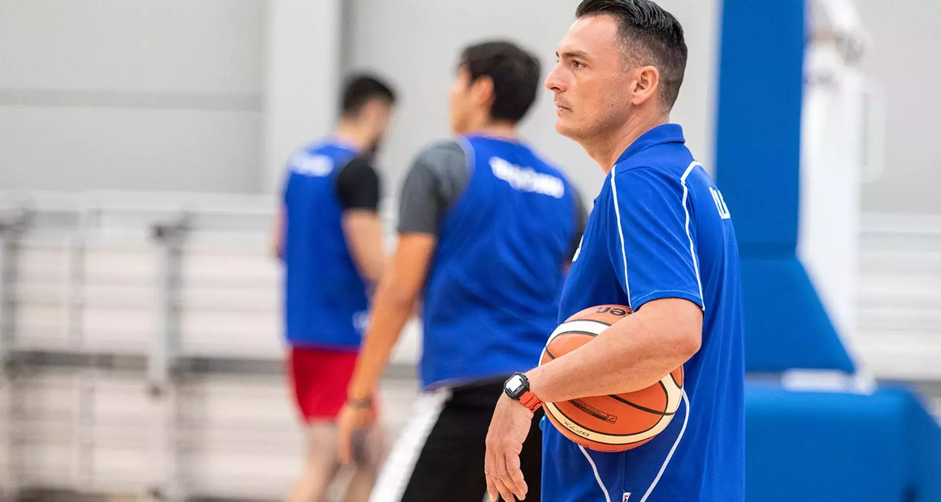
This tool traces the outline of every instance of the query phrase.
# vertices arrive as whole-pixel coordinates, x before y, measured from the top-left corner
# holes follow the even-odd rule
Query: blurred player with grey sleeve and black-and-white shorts
[[[458,138],[425,149],[407,174],[398,247],[340,418],[343,453],[351,431],[373,419],[377,383],[421,296],[426,394],[383,467],[375,502],[480,502],[484,437],[502,381],[538,361],[555,324],[586,215],[566,177],[518,138],[539,72],[538,60],[509,42],[465,49],[451,89]],[[538,478],[538,423],[525,422],[521,468]]]

